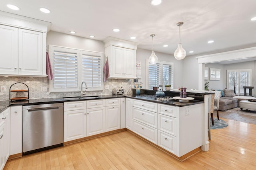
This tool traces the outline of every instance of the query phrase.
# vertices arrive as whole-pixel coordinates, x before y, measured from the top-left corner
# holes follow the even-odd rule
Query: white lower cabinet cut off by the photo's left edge
[[[10,108],[0,113],[0,170],[10,156]]]

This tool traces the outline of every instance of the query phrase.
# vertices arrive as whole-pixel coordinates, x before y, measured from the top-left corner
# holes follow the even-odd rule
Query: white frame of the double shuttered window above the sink
[[[104,66],[104,54],[102,52],[97,52],[97,51],[89,51],[89,50],[84,50],[84,49],[74,49],[70,47],[62,47],[62,46],[56,46],[56,45],[49,45],[49,57],[52,65],[52,72],[54,73],[54,50],[64,50],[66,52],[76,52],[77,53],[77,86],[74,88],[54,88],[54,78],[53,80],[49,81],[49,92],[80,92],[81,91],[81,84],[82,84],[82,54],[86,53],[87,55],[98,55],[100,57],[100,64],[101,64],[101,86],[97,88],[90,88],[88,86],[88,89],[86,91],[103,91],[103,66]],[[63,52],[64,52],[63,51]],[[54,76],[54,75],[53,75]],[[86,84],[90,84],[86,82]]]

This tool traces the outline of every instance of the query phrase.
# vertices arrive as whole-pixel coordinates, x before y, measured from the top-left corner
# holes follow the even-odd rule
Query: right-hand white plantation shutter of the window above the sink
[[[102,90],[102,55],[82,51],[82,81],[88,89]]]

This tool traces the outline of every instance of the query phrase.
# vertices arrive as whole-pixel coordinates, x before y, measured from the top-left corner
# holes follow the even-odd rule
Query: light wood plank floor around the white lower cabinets
[[[255,170],[256,125],[223,120],[228,127],[211,130],[210,150],[184,162],[123,131],[9,160],[4,170]]]

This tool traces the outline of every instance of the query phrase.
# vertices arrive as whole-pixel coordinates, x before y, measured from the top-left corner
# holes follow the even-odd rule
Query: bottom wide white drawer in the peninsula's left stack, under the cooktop
[[[157,129],[135,120],[133,121],[133,129],[134,133],[137,133],[138,135],[157,145]]]

